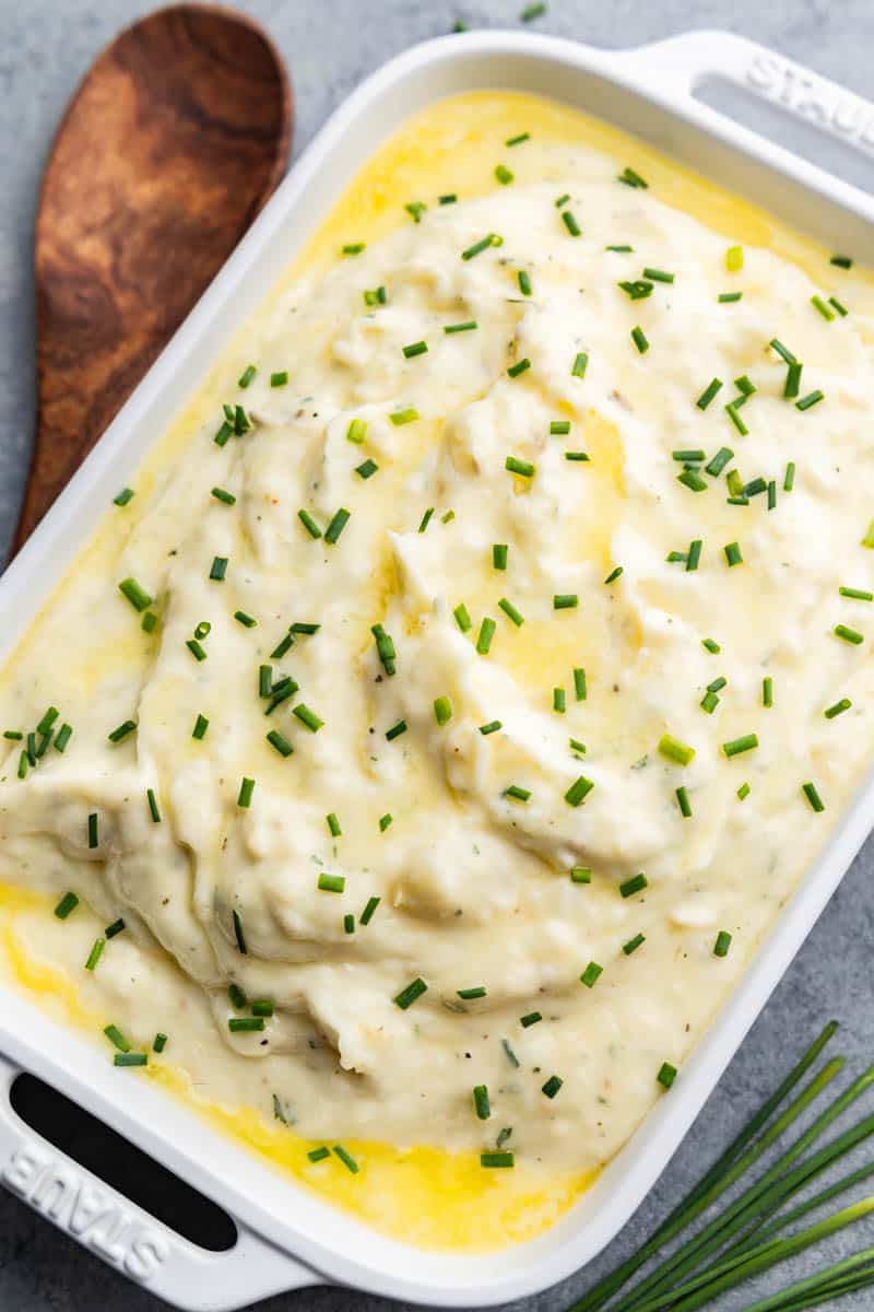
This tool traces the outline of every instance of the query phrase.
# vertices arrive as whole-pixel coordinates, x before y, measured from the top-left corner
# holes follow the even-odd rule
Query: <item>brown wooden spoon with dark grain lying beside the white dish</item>
[[[214,5],[134,24],[81,81],[37,213],[37,434],[13,550],[276,186],[291,119],[271,41]]]

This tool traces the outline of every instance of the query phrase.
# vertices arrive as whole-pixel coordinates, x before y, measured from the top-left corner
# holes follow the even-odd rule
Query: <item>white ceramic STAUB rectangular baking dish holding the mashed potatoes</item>
[[[0,580],[0,660],[130,480],[166,416],[198,388],[241,318],[261,302],[355,171],[381,139],[443,96],[512,87],[566,101],[782,214],[832,249],[874,264],[874,199],[700,104],[694,89],[713,76],[874,155],[873,105],[722,33],[625,52],[480,33],[417,46],[370,77],[296,164]],[[671,1097],[552,1231],[499,1258],[427,1253],[373,1233],[215,1134],[148,1081],[119,1075],[80,1036],[3,988],[0,1181],[132,1279],[193,1312],[330,1281],[465,1308],[539,1291],[598,1253],[646,1195],[844,875],[871,817],[874,778],[860,790]],[[240,1233],[236,1248],[216,1256],[181,1240],[34,1136],[8,1099],[20,1069],[63,1089],[227,1208]]]

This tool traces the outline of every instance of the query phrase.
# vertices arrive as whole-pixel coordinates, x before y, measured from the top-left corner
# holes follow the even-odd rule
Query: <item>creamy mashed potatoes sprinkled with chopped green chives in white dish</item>
[[[387,1141],[561,1210],[869,760],[874,298],[480,106],[476,181],[341,209],[25,640],[0,879],[50,899],[7,896],[25,983],[81,981],[147,1075],[363,1190]]]

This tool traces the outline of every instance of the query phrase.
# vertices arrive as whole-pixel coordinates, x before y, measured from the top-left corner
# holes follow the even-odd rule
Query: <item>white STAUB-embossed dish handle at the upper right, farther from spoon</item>
[[[874,157],[874,102],[812,70],[729,31],[688,31],[621,52],[650,87],[694,97],[708,79],[723,79],[777,109]]]

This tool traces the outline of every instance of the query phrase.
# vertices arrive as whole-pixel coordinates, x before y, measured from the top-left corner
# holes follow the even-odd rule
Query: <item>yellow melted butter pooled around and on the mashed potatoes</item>
[[[270,295],[265,314],[282,293],[303,273],[312,276],[334,262],[343,241],[372,243],[410,218],[404,205],[411,199],[435,203],[440,193],[453,192],[459,199],[487,194],[494,189],[494,165],[508,157],[520,173],[524,156],[506,151],[503,142],[519,131],[528,131],[535,143],[587,144],[618,154],[650,181],[662,199],[725,234],[727,241],[768,247],[822,281],[827,273],[828,252],[806,240],[750,202],[742,201],[714,184],[670,161],[650,147],[626,138],[607,125],[595,122],[557,104],[524,94],[480,92],[440,102],[408,123],[384,144],[347,189],[343,198],[308,243],[288,274]],[[241,332],[212,370],[202,392],[182,411],[166,434],[156,443],[138,474],[138,496],[124,514],[109,514],[93,541],[80,554],[69,577],[105,575],[117,559],[126,537],[135,529],[164,471],[187,446],[190,434],[211,415],[221,400],[225,380],[248,362],[248,332]],[[422,425],[425,430],[426,425]],[[624,493],[622,451],[616,430],[599,415],[586,419],[586,447],[592,466],[586,467],[596,480],[599,516],[580,523],[575,550],[599,560],[604,572],[613,562],[611,537]],[[438,433],[431,434],[434,441]],[[524,483],[523,483],[524,487]],[[63,605],[67,584],[60,584],[47,604]],[[375,569],[372,593],[390,597],[397,586],[394,567]],[[375,611],[379,607],[375,607]],[[571,617],[560,642],[554,631],[545,643],[545,632],[536,623],[504,643],[502,656],[520,682],[561,682],[569,666],[584,664],[590,677],[601,673],[600,653],[587,639],[587,626]],[[639,644],[636,635],[624,639],[630,649]],[[22,664],[39,642],[39,625],[25,636],[14,664]],[[123,656],[128,665],[145,668],[153,642],[134,634],[104,646],[104,661],[89,656],[79,674],[88,687],[96,686]],[[546,657],[544,655],[546,652]],[[615,653],[611,657],[615,660]],[[561,677],[560,677],[561,672]],[[18,916],[33,913],[39,904],[51,914],[51,904],[20,888],[0,888],[1,942],[10,975],[54,1015],[97,1034],[111,1019],[85,1008],[77,985],[54,966],[37,962],[22,949],[16,934]],[[508,1240],[525,1240],[552,1225],[594,1178],[591,1173],[541,1173],[518,1164],[512,1172],[484,1172],[473,1153],[452,1155],[434,1148],[398,1148],[347,1141],[347,1148],[360,1161],[362,1170],[352,1176],[335,1158],[321,1164],[307,1160],[312,1143],[300,1139],[284,1126],[266,1122],[252,1107],[228,1107],[207,1103],[191,1085],[190,1077],[172,1061],[153,1063],[143,1075],[186,1103],[195,1106],[207,1120],[235,1141],[248,1144],[259,1157],[276,1169],[294,1176],[321,1197],[347,1208],[375,1228],[426,1246],[490,1249]],[[140,1076],[136,1076],[140,1077]]]

